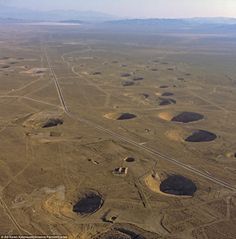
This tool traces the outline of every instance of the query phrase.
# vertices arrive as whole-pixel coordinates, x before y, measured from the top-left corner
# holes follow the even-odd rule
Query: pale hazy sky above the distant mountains
[[[236,0],[0,0],[0,2],[31,9],[92,10],[132,18],[236,17]]]

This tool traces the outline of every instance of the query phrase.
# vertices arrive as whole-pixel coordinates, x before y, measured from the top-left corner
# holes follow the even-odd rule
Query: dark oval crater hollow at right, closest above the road
[[[185,139],[185,141],[192,143],[210,142],[214,141],[216,138],[217,136],[212,132],[206,130],[195,130],[190,136]]]

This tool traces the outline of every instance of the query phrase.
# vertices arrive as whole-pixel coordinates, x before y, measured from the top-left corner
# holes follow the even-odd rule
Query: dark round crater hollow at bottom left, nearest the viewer
[[[99,210],[104,203],[102,196],[94,191],[89,191],[79,198],[78,202],[73,206],[73,212],[80,215],[88,215]]]

